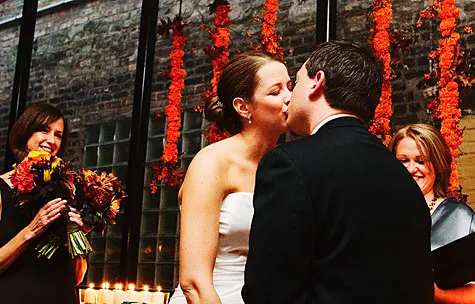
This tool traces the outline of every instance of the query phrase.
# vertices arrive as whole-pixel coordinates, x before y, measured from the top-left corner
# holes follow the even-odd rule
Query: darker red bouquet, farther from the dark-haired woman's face
[[[126,197],[122,185],[113,173],[97,174],[82,169],[75,176],[76,205],[83,221],[94,231],[103,233],[106,226],[115,224],[120,201]]]

